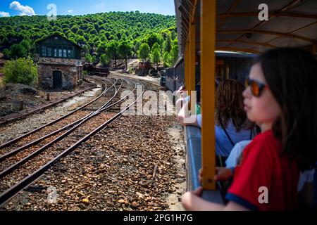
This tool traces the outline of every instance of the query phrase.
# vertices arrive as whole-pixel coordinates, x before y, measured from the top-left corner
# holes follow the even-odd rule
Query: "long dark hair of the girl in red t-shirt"
[[[282,141],[282,155],[311,169],[317,153],[317,63],[309,52],[279,48],[259,55],[266,82],[282,109],[273,133]]]

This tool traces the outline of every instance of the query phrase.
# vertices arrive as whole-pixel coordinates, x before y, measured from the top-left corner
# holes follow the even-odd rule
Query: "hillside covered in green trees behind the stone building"
[[[51,21],[39,15],[0,18],[0,51],[6,58],[32,57],[35,41],[54,33],[82,46],[91,62],[137,55],[169,66],[178,58],[175,16],[139,11],[60,15]]]

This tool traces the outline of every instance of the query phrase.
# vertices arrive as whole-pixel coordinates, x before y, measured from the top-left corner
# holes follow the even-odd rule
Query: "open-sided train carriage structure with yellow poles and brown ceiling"
[[[268,17],[264,19],[259,8],[262,3],[261,0],[175,0],[180,58],[166,70],[163,85],[171,91],[180,86],[186,91],[197,91],[201,114],[209,115],[202,120],[201,129],[185,126],[187,188],[194,190],[200,185],[197,174],[204,168],[207,175],[202,181],[203,198],[216,203],[224,200],[213,181],[214,81],[244,82],[252,59],[268,49],[300,47],[317,57],[317,1],[265,1]],[[314,199],[316,203],[316,176]]]

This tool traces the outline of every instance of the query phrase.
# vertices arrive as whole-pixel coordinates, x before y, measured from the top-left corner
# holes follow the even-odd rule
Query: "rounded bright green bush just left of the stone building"
[[[37,83],[37,65],[32,60],[18,58],[4,65],[4,83],[34,85]]]

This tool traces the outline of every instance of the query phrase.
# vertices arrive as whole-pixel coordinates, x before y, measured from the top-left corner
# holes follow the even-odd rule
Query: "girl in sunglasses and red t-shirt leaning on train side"
[[[317,63],[301,49],[267,51],[254,61],[243,92],[244,110],[262,133],[244,149],[223,206],[187,192],[187,210],[294,210],[299,172],[317,153]]]

